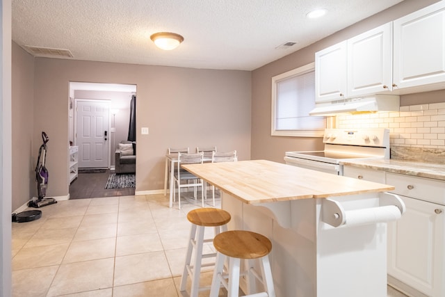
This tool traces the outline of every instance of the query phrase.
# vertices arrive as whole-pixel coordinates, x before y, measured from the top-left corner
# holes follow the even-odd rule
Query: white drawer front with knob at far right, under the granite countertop
[[[387,172],[386,184],[395,186],[398,195],[445,205],[445,182]]]

